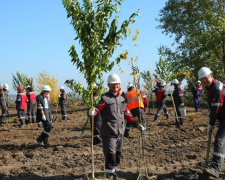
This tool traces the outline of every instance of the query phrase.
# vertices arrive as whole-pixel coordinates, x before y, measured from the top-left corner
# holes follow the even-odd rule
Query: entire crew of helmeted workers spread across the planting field
[[[207,100],[210,108],[210,120],[207,126],[207,132],[212,131],[216,119],[218,119],[220,123],[214,141],[214,153],[211,167],[204,169],[204,173],[219,178],[225,158],[225,105],[223,103],[225,98],[225,85],[214,79],[212,71],[207,67],[201,68],[198,71],[198,76],[200,81],[192,88],[195,110],[199,111],[199,98],[203,93],[201,87],[202,83],[208,90]],[[140,130],[143,135],[145,134],[146,119],[144,110],[147,106],[147,99],[146,96],[140,90],[135,89],[132,84],[129,84],[127,86],[127,92],[123,93],[121,90],[120,77],[115,73],[109,75],[107,83],[109,91],[101,95],[98,103],[95,101],[98,96],[98,87],[94,86],[93,100],[95,102],[95,108],[88,111],[88,116],[94,116],[94,144],[102,144],[105,157],[106,177],[116,180],[116,170],[122,154],[123,137],[129,137],[131,126]],[[182,125],[183,117],[180,110],[181,107],[184,106],[184,91],[180,88],[180,83],[177,79],[172,80],[172,84],[174,85],[173,93],[168,95],[172,96],[175,104],[177,112],[176,124]],[[63,89],[61,88],[60,91]],[[0,104],[2,106],[1,123],[5,123],[5,116],[7,114],[7,90],[7,84],[0,89]],[[48,85],[44,85],[41,94],[35,96],[31,87],[27,87],[27,94],[24,94],[23,89],[18,87],[16,100],[21,126],[25,124],[24,110],[26,109],[27,101],[28,120],[29,122],[36,121],[34,115],[35,103],[31,102],[37,102],[36,117],[37,120],[40,120],[44,125],[44,131],[37,138],[37,142],[40,144],[44,143],[46,146],[50,145],[48,138],[52,129],[53,120],[49,98],[50,91],[51,88]],[[157,82],[154,92],[158,103],[158,110],[154,120],[158,121],[158,117],[163,111],[166,118],[169,119],[170,115],[165,105],[165,99],[167,97],[166,83],[163,81]],[[60,102],[64,104],[66,101],[66,94],[64,91],[61,91]],[[62,119],[66,120],[65,107],[62,107],[61,111]],[[124,120],[126,120],[126,123]]]

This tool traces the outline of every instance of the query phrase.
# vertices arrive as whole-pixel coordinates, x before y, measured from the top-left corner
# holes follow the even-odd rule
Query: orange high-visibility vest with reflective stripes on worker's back
[[[140,96],[139,97],[140,100],[138,100],[137,95]],[[142,97],[142,94],[140,94],[139,90],[136,90],[136,89],[131,90],[130,92],[127,93],[126,98],[127,98],[127,106],[129,110],[137,108],[137,107],[144,108],[143,97]]]

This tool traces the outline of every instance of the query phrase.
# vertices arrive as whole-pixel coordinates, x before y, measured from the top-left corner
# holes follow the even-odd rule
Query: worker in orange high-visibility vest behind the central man
[[[140,92],[140,90],[134,89],[133,84],[127,85],[127,108],[131,112],[133,117],[137,117],[139,122],[144,122],[146,128],[146,119],[144,109],[147,107],[147,97]],[[126,123],[126,128],[124,132],[124,137],[129,137],[131,124]]]

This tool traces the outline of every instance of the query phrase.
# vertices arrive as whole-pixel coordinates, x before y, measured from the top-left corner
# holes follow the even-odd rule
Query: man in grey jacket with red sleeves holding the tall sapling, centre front
[[[108,77],[109,92],[101,96],[101,100],[96,105],[95,113],[102,116],[102,145],[105,157],[106,177],[116,180],[116,169],[120,163],[122,152],[123,134],[125,130],[124,118],[133,124],[140,131],[145,128],[140,125],[127,109],[125,98],[118,94],[120,89],[120,78],[117,74]],[[93,112],[90,112],[93,114]]]

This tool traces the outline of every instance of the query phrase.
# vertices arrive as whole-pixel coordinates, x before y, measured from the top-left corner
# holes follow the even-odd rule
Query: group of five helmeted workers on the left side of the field
[[[8,84],[4,84],[3,87],[0,88],[0,105],[2,108],[2,116],[0,120],[0,124],[5,124],[5,117],[7,115],[8,109]],[[58,97],[58,105],[61,106],[61,114],[62,120],[67,120],[66,115],[66,104],[67,104],[67,95],[65,93],[64,87],[60,87],[60,94]],[[31,86],[26,87],[26,93],[24,93],[23,87],[19,86],[17,88],[17,96],[16,96],[16,110],[19,118],[20,125],[22,128],[26,126],[26,115],[25,111],[27,111],[28,122],[27,123],[38,123],[38,129],[44,126],[44,131],[37,138],[37,142],[41,144],[44,143],[45,146],[49,146],[48,142],[49,133],[52,129],[52,121],[53,115],[51,110],[51,101],[49,97],[49,93],[51,91],[51,87],[48,85],[44,85],[42,87],[42,92],[36,96],[33,88]],[[36,108],[37,105],[37,108]]]

